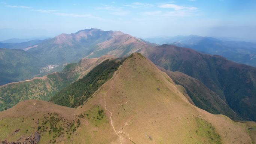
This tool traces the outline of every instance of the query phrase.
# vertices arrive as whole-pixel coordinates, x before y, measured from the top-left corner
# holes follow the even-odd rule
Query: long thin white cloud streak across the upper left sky
[[[5,5],[6,7],[11,7],[11,8],[22,8],[22,9],[28,9],[34,12],[41,12],[41,13],[49,13],[53,15],[59,15],[59,16],[70,16],[70,17],[83,17],[83,18],[94,18],[97,20],[104,20],[100,17],[93,16],[90,14],[76,14],[76,13],[62,13],[58,12],[58,10],[44,10],[44,9],[34,9],[33,7],[28,7],[28,6],[16,6],[16,5]]]

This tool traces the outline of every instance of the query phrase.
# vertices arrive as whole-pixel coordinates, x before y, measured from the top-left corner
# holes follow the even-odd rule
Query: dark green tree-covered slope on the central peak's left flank
[[[78,107],[109,80],[125,59],[107,59],[92,69],[82,79],[71,83],[51,99],[55,104]]]

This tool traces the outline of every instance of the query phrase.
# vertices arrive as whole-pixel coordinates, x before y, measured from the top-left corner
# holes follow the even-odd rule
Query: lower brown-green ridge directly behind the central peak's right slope
[[[179,71],[173,72],[165,70],[164,68],[161,68],[161,70],[165,71],[176,84],[182,85],[186,89],[186,92],[197,107],[213,114],[224,114],[231,119],[242,119],[219,95],[211,91],[199,80],[184,73],[180,73]]]

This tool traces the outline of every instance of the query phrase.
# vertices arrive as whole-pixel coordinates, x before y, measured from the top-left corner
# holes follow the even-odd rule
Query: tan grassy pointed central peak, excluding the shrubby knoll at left
[[[96,95],[102,103],[106,95],[123,143],[252,143],[244,124],[193,106],[166,73],[137,54]]]

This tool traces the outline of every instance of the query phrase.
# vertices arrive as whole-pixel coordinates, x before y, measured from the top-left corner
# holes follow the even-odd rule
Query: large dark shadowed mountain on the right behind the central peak
[[[244,119],[256,119],[256,68],[174,45],[155,47],[149,59],[200,80]]]

